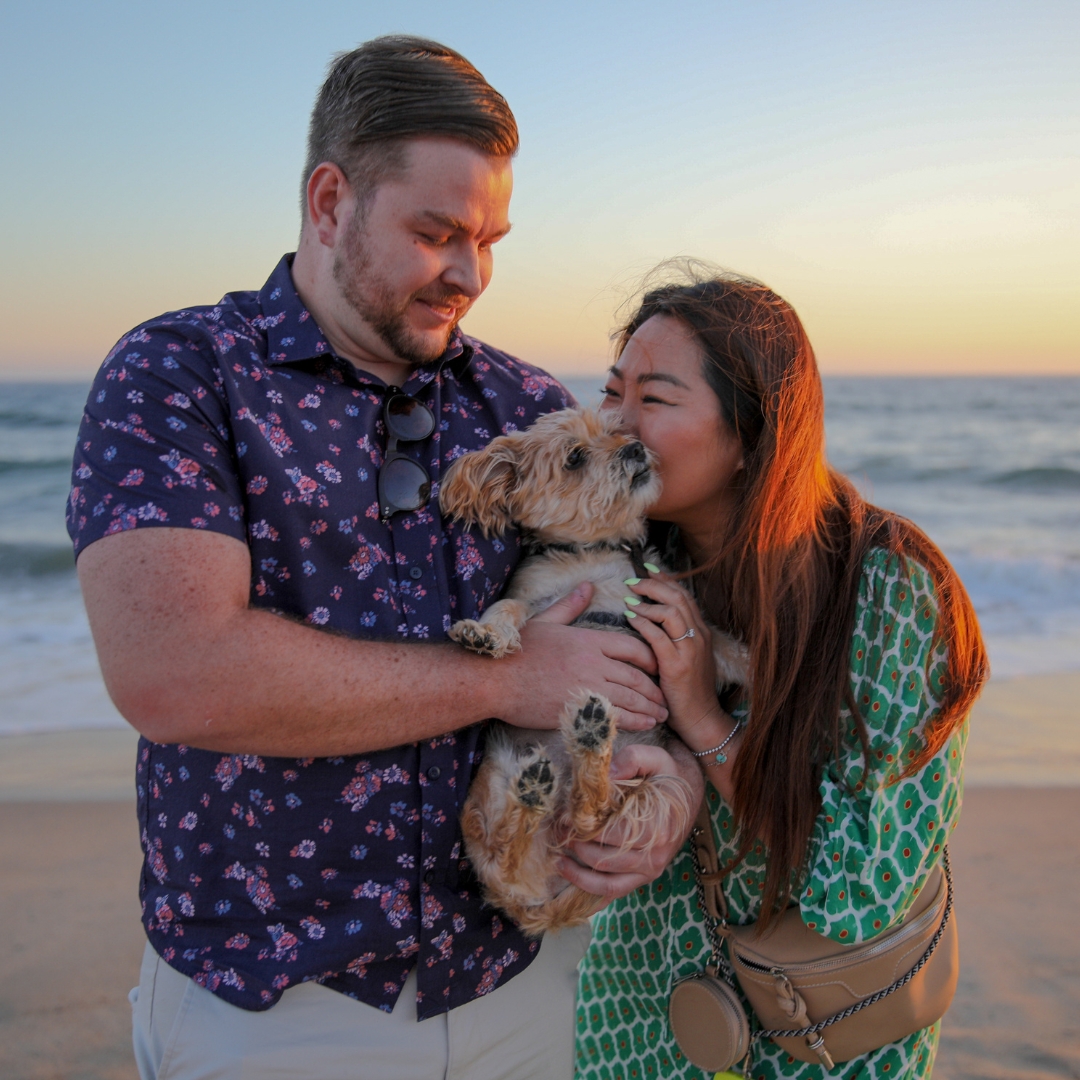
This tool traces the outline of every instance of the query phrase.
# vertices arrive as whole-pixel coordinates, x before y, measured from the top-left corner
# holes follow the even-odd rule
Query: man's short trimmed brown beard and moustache
[[[399,360],[409,364],[430,364],[446,351],[446,343],[457,328],[460,315],[446,327],[437,345],[431,345],[408,326],[407,313],[413,301],[422,295],[429,303],[454,301],[464,308],[460,292],[433,284],[410,296],[396,299],[390,283],[380,278],[364,242],[364,215],[354,214],[349,222],[341,249],[334,259],[334,280],[346,302],[375,330]],[[434,292],[437,289],[437,293]],[[463,311],[462,311],[463,314]]]

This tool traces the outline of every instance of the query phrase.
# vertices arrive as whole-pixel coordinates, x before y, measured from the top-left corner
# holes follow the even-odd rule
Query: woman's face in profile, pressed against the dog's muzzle
[[[701,348],[683,323],[653,315],[611,368],[600,407],[619,409],[626,428],[657,456],[664,487],[649,516],[707,543],[731,505],[731,482],[743,460],[702,363]]]

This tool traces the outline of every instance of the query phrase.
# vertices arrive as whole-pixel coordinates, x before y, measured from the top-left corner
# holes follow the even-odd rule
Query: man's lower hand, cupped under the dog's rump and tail
[[[681,743],[674,743],[670,751],[659,746],[625,746],[611,762],[611,775],[616,780],[661,773],[681,777],[690,784],[697,807],[704,795],[705,782],[698,762]],[[572,858],[564,855],[558,861],[558,873],[571,885],[609,903],[658,878],[683,847],[692,827],[691,819],[678,833],[651,837],[648,848],[623,851],[619,842],[622,838],[619,823],[613,822],[599,840],[579,840],[571,845]]]

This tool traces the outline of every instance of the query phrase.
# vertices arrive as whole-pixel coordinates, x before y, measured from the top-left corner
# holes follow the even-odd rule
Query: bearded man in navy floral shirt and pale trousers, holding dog
[[[640,642],[568,625],[585,593],[513,658],[446,643],[518,545],[444,522],[443,471],[568,401],[457,329],[510,229],[516,147],[451,50],[339,56],[295,257],[257,294],[136,328],[91,391],[69,528],[144,737],[144,1078],[570,1075],[586,932],[530,942],[483,905],[458,829],[478,725],[553,727],[579,687],[631,727],[666,712]],[[617,768],[700,788],[685,756]],[[681,839],[580,845],[565,873],[610,899]]]

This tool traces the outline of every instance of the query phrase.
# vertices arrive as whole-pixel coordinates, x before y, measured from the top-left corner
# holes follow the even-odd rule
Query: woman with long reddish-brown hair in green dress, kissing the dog
[[[654,539],[697,596],[652,575],[627,583],[627,615],[671,727],[711,751],[699,761],[730,916],[767,927],[798,904],[818,933],[866,941],[904,915],[959,814],[964,719],[987,672],[971,604],[922,532],[828,467],[813,351],[770,289],[728,274],[656,288],[617,341],[604,407],[657,455]],[[717,700],[706,620],[750,648],[744,700]],[[688,849],[593,930],[581,1080],[704,1078],[666,1021],[673,983],[708,955]],[[746,1075],[927,1077],[937,1037],[935,1024],[833,1074],[758,1041]]]

